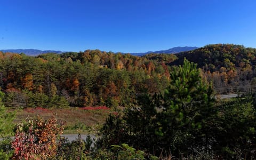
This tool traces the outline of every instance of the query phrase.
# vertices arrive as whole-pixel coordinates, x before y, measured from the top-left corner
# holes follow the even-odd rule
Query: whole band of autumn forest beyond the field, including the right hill
[[[99,50],[37,57],[0,52],[0,87],[10,107],[126,106],[137,93],[163,92],[185,58],[215,88],[256,84],[255,56],[256,49],[233,44],[143,57]]]

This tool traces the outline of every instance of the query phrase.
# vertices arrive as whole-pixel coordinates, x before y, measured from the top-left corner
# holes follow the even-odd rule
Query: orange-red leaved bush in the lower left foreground
[[[57,137],[62,134],[62,125],[54,117],[43,121],[39,116],[27,119],[27,125],[18,126],[12,141],[13,159],[49,159],[57,154]]]

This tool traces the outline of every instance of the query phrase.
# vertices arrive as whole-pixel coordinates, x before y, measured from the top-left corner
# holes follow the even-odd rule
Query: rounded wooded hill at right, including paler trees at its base
[[[169,65],[181,65],[186,58],[202,68],[214,87],[256,84],[256,49],[243,45],[213,44],[175,54],[178,59]]]

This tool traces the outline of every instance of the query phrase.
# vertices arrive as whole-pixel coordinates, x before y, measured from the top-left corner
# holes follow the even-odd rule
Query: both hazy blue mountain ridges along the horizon
[[[198,47],[191,47],[191,46],[185,46],[185,47],[173,47],[169,50],[161,50],[161,51],[148,51],[145,53],[130,53],[132,55],[137,55],[137,56],[142,56],[142,55],[146,55],[149,53],[169,53],[169,54],[175,54],[175,53],[179,53],[179,52],[185,52],[185,51],[191,51],[191,50],[195,50],[198,49]],[[41,51],[41,50],[35,50],[35,49],[17,49],[17,50],[0,50],[2,52],[11,52],[11,53],[24,53],[26,55],[31,55],[31,56],[36,56],[39,54],[43,54],[43,53],[65,53],[62,51],[54,51],[54,50],[47,50],[47,51]]]

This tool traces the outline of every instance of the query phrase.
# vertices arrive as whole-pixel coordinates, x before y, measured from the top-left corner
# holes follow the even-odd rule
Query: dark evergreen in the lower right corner
[[[218,116],[212,148],[223,159],[256,158],[256,109],[250,96],[223,101],[218,106]],[[255,100],[254,100],[255,101]]]

